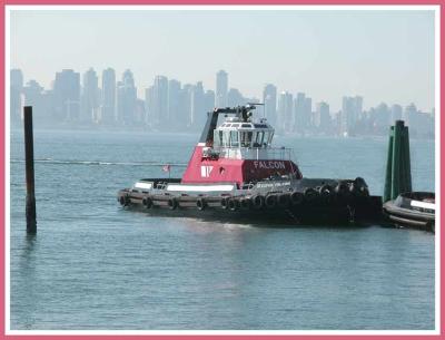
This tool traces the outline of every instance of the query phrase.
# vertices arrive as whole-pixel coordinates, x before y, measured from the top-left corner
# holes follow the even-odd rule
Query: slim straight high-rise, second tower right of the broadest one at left
[[[116,72],[112,68],[102,71],[100,100],[100,123],[110,125],[116,122]]]

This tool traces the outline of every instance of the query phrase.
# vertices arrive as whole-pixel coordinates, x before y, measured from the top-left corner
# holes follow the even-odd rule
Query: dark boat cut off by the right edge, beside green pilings
[[[385,216],[398,226],[435,232],[435,194],[426,192],[403,193],[383,205]]]

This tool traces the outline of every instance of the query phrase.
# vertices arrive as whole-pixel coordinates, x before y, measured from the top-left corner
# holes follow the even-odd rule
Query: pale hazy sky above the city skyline
[[[139,96],[156,75],[261,98],[304,91],[338,109],[342,96],[434,107],[434,12],[303,10],[13,10],[11,67],[48,88],[55,72],[134,71]]]

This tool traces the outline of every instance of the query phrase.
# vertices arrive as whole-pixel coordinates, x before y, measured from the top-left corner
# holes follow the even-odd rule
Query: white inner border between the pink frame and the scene
[[[128,334],[128,336],[141,336],[141,334],[300,334],[300,336],[365,336],[365,334],[439,334],[441,333],[441,208],[436,211],[436,234],[435,234],[435,330],[419,331],[419,330],[375,330],[375,331],[350,331],[350,330],[306,330],[306,331],[280,331],[280,330],[264,330],[264,331],[211,331],[211,330],[197,330],[197,331],[135,331],[135,330],[112,330],[112,331],[95,331],[95,330],[80,330],[80,331],[62,331],[62,330],[11,330],[10,329],[10,97],[9,97],[9,84],[10,84],[10,13],[11,11],[19,10],[429,10],[435,12],[435,191],[441,193],[441,6],[6,6],[4,7],[4,43],[6,43],[6,58],[4,58],[4,72],[6,72],[6,97],[4,97],[4,123],[6,123],[6,134],[4,134],[4,147],[6,147],[6,159],[4,159],[4,217],[6,217],[6,230],[4,230],[4,261],[6,261],[6,273],[4,273],[4,289],[6,289],[6,305],[4,305],[4,328],[6,334]],[[436,195],[436,204],[441,207],[441,195]],[[24,231],[23,231],[24,232]]]

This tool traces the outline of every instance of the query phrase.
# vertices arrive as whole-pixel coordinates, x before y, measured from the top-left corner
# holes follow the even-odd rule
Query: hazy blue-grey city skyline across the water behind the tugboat
[[[10,117],[16,126],[22,106],[31,105],[37,125],[196,132],[214,107],[263,103],[259,117],[267,118],[279,134],[380,135],[394,120],[405,119],[415,135],[434,136],[434,108],[425,113],[415,104],[380,103],[366,110],[364,97],[356,95],[343,96],[342,109],[332,110],[329,103],[313,100],[310,94],[278,90],[274,84],[264,87],[261,97],[248,98],[231,86],[225,70],[215,74],[215,90],[206,89],[202,81],[184,84],[156,76],[144,89],[144,98],[137,95],[130,69],[121,76],[112,68],[103,69],[101,76],[92,68],[82,75],[63,69],[56,72],[49,89],[36,80],[26,82],[20,69],[11,69],[10,79]]]

